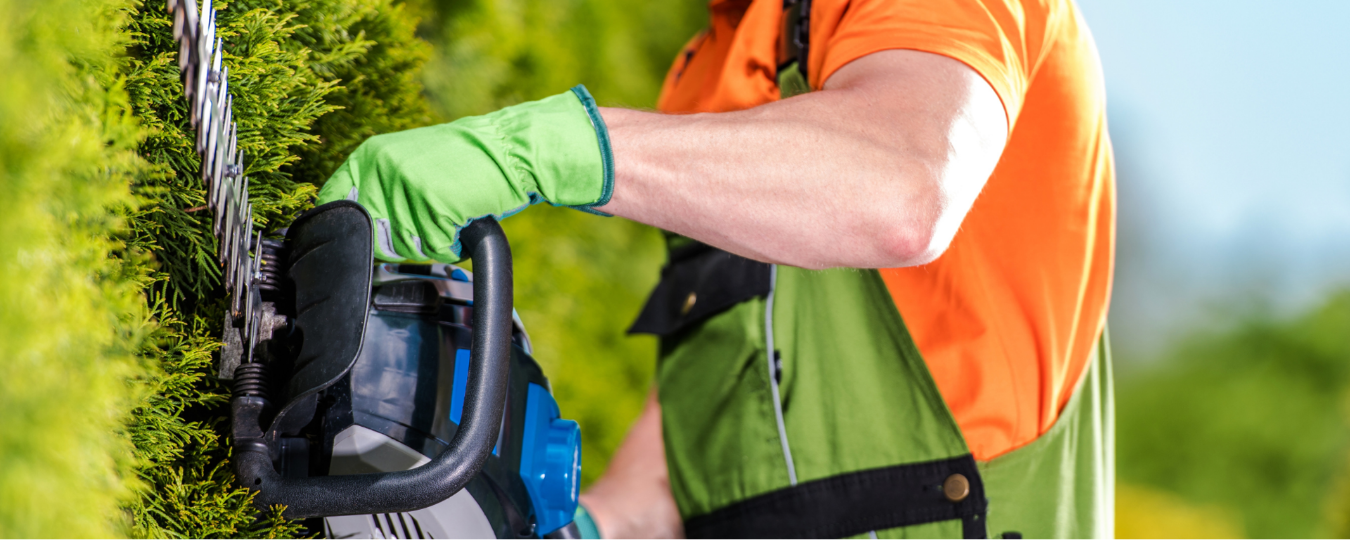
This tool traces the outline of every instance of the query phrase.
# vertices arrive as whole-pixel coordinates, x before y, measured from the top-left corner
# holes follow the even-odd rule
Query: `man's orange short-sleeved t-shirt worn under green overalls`
[[[782,0],[713,0],[663,112],[778,100]],[[1003,157],[937,261],[882,277],[976,459],[1045,433],[1106,325],[1115,180],[1100,61],[1072,0],[814,0],[811,88],[888,49],[942,54],[1003,101]]]

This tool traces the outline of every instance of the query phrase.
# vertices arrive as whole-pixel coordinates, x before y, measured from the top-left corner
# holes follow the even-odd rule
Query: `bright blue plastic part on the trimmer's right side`
[[[525,440],[520,478],[525,481],[539,533],[548,535],[572,522],[580,491],[582,431],[562,420],[558,402],[543,386],[529,385],[525,401]]]

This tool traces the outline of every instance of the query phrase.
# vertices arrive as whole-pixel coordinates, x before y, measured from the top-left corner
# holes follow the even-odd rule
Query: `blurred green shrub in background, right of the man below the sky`
[[[1119,373],[1118,533],[1150,528],[1138,486],[1204,505],[1196,533],[1350,533],[1350,293],[1291,319],[1250,315]],[[1177,508],[1177,505],[1172,505]],[[1150,532],[1152,531],[1152,532]]]

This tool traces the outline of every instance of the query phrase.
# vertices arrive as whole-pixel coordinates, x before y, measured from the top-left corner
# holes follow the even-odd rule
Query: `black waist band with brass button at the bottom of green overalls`
[[[952,502],[942,482],[964,475],[969,495]],[[961,520],[983,539],[988,502],[975,458],[848,473],[770,491],[684,521],[690,539],[840,539],[896,526]]]

